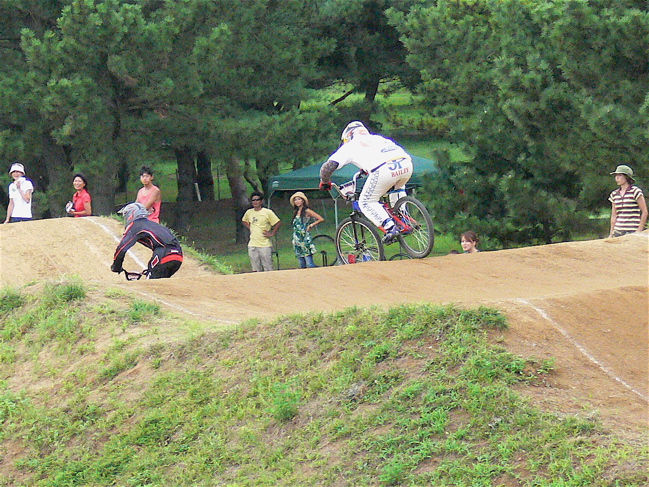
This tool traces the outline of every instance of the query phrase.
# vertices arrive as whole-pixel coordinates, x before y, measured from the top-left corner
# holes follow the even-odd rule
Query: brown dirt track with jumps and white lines
[[[593,415],[645,441],[649,420],[649,232],[616,239],[317,269],[217,275],[191,258],[171,279],[127,282],[111,273],[115,220],[62,218],[0,225],[0,284],[77,275],[125,288],[214,326],[350,306],[455,303],[501,310],[509,351],[555,358],[544,386],[525,394],[548,411]],[[136,245],[124,267],[140,271]]]

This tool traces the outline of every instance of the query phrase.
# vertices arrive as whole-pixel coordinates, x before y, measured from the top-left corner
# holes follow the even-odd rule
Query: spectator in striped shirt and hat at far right
[[[611,175],[615,176],[619,188],[608,198],[612,205],[609,237],[643,231],[647,224],[647,202],[642,190],[634,184],[633,169],[622,164]]]

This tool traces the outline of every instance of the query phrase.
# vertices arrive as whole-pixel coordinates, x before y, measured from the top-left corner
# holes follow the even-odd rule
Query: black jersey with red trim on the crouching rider
[[[126,252],[138,242],[156,254],[166,255],[173,252],[182,256],[180,243],[169,229],[146,218],[138,218],[126,227],[122,241],[115,250],[112,268],[121,269]]]

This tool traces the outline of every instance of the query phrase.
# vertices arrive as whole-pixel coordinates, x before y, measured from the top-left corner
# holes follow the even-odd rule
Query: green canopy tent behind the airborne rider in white
[[[268,183],[268,206],[270,206],[271,204],[273,194],[278,191],[308,191],[319,189],[320,166],[322,166],[323,162],[325,161],[270,178],[270,181]],[[438,171],[435,161],[431,159],[413,156],[412,164],[414,166],[414,174],[406,185],[406,188],[408,189],[413,189],[421,186],[425,177],[430,177]],[[358,171],[358,168],[356,166],[354,166],[353,164],[348,164],[338,171],[334,172],[331,180],[338,185],[346,183],[347,181],[351,180],[356,171]],[[364,180],[359,181],[361,187],[363,183]],[[338,199],[340,198],[340,195],[336,191],[332,191],[331,195],[334,199],[336,226],[338,226]]]

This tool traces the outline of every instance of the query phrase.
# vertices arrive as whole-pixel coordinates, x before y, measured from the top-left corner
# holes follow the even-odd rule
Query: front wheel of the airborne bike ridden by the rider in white
[[[365,218],[345,218],[336,229],[336,252],[343,264],[385,260],[379,231]]]

